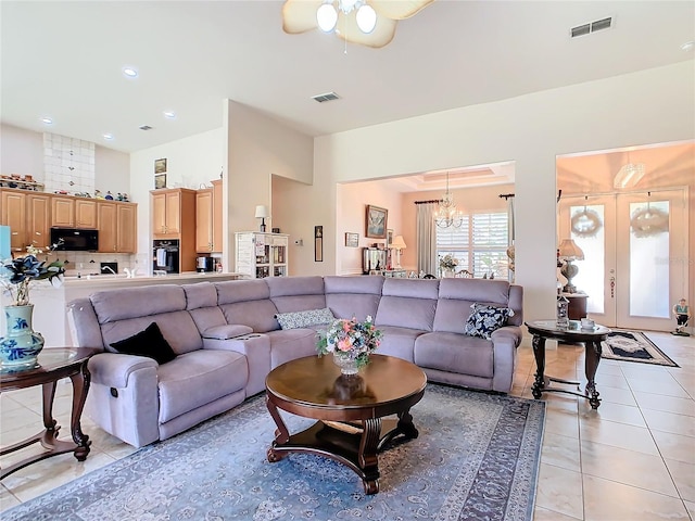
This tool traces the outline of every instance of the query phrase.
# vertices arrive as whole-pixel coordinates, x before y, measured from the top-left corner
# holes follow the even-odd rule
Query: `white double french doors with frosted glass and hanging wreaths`
[[[687,295],[687,189],[563,196],[558,239],[583,250],[573,284],[608,327],[668,331]]]

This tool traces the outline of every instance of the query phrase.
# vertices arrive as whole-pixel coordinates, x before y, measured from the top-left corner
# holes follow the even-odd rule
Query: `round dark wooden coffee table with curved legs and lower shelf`
[[[409,361],[371,355],[356,376],[341,376],[330,356],[278,366],[266,378],[266,405],[277,424],[268,461],[289,453],[327,456],[354,470],[366,494],[379,492],[377,454],[396,436],[417,437],[410,407],[425,394],[427,377]],[[319,421],[290,434],[278,409]],[[397,415],[396,419],[382,419]]]

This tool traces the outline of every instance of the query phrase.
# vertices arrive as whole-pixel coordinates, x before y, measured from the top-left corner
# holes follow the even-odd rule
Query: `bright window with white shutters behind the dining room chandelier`
[[[506,212],[466,215],[460,228],[437,227],[438,258],[452,255],[458,259],[456,271],[465,269],[475,277],[506,278],[507,228]]]

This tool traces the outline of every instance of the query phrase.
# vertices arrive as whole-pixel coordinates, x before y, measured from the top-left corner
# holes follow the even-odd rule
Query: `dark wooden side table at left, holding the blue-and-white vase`
[[[0,480],[28,465],[59,454],[74,453],[78,461],[87,459],[91,442],[89,436],[83,433],[79,420],[89,391],[90,374],[87,370],[87,361],[97,353],[99,350],[86,347],[48,347],[39,354],[38,361],[34,367],[0,368],[0,392],[16,391],[34,385],[42,386],[43,427],[46,428],[22,442],[0,448],[0,456],[27,447],[36,442],[48,449],[8,468],[0,469]],[[58,440],[60,425],[53,418],[55,386],[58,381],[63,378],[70,378],[73,383],[73,409],[70,427],[74,443]]]

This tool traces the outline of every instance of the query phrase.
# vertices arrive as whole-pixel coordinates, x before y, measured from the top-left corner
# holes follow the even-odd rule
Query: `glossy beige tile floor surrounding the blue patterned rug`
[[[695,336],[649,333],[681,367],[602,360],[596,379],[603,399],[597,411],[580,397],[546,393],[546,425],[535,503],[538,521],[653,521],[695,519]],[[546,373],[581,379],[581,345],[547,342]],[[532,397],[535,364],[530,338],[519,348],[511,394]],[[71,385],[59,384],[55,417],[68,437]],[[21,405],[20,399],[25,401]],[[0,445],[41,425],[37,389],[0,394]],[[87,460],[61,455],[2,480],[2,510],[43,494],[135,449],[97,428]],[[37,446],[23,449],[34,452]],[[22,453],[7,455],[1,466]]]

